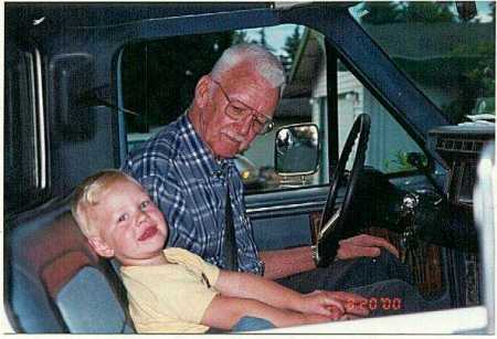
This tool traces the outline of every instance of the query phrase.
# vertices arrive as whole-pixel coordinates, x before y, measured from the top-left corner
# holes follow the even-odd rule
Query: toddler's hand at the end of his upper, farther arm
[[[367,309],[353,307],[361,301],[363,303],[366,299],[351,293],[315,290],[303,295],[299,311],[326,316],[328,320],[337,320],[345,314],[364,317],[369,314]]]

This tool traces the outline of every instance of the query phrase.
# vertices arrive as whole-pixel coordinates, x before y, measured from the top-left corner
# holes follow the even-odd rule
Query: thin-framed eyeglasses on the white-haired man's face
[[[224,88],[221,86],[221,84],[214,80],[212,80],[212,82],[218,85],[218,87],[221,89],[224,97],[226,98],[228,105],[224,108],[225,115],[228,115],[233,120],[241,120],[246,116],[252,115],[254,117],[254,119],[252,119],[252,128],[258,135],[265,135],[266,133],[273,129],[274,123],[272,117],[258,113],[257,110],[248,107],[247,105],[245,105],[240,100],[232,102],[226,92],[224,92]]]

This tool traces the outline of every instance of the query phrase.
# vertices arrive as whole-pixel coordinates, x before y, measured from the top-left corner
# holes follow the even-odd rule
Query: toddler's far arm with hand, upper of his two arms
[[[214,286],[223,296],[255,299],[276,308],[286,308],[306,314],[330,317],[335,307],[340,312],[366,316],[367,312],[353,307],[366,299],[343,292],[320,292],[302,295],[273,280],[250,273],[221,271]]]

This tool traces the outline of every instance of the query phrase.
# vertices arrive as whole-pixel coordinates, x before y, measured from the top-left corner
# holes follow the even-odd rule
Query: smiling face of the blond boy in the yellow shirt
[[[161,257],[168,230],[160,210],[144,189],[129,180],[114,182],[91,209],[99,236],[89,237],[95,251],[123,265],[152,264]]]

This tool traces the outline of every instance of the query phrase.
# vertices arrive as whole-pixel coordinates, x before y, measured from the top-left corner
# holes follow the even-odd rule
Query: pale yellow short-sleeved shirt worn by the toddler
[[[172,264],[123,266],[129,312],[138,332],[199,333],[209,327],[200,324],[219,294],[212,286],[220,269],[183,248],[166,248]]]

